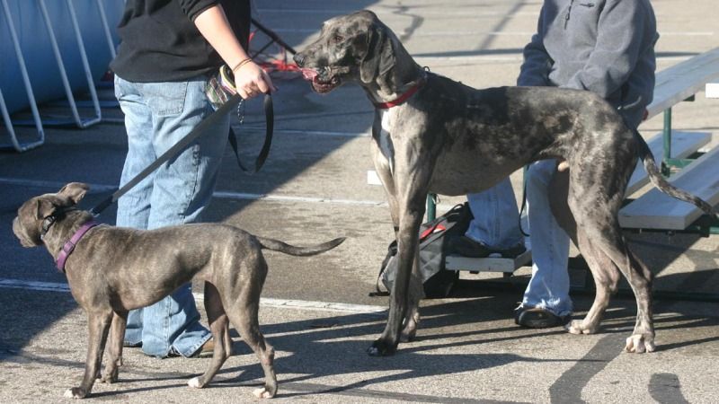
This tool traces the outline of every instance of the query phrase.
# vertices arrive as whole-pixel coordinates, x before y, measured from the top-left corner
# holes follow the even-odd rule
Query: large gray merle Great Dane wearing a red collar
[[[427,193],[481,191],[528,162],[550,158],[568,167],[551,184],[550,195],[560,195],[553,214],[597,285],[587,316],[567,328],[574,334],[598,329],[621,272],[637,303],[626,350],[654,349],[652,273],[627,248],[617,219],[637,156],[657,188],[707,213],[712,207],[663,180],[642,136],[607,102],[591,92],[547,87],[476,90],[431,74],[368,11],[324,22],[319,38],[295,61],[315,92],[358,83],[376,107],[372,157],[389,199],[399,266],[386,329],[370,355],[393,354],[417,327],[418,229]]]

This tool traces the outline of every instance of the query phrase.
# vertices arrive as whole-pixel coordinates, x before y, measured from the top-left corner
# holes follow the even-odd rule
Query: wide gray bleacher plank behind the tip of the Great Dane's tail
[[[712,206],[718,205],[719,147],[699,157],[670,181]],[[652,189],[619,211],[619,224],[635,229],[684,230],[702,214],[697,206]]]

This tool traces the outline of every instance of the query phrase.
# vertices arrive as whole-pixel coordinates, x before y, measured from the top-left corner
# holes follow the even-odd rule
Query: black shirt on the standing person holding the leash
[[[250,0],[128,0],[118,25],[118,55],[110,68],[138,83],[182,81],[217,70],[224,62],[194,23],[215,4],[222,4],[246,50]]]

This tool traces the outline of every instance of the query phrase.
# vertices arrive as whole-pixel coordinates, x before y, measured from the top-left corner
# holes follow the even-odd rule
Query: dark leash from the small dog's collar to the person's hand
[[[138,175],[135,176],[132,180],[129,180],[125,185],[123,185],[120,189],[116,190],[112,195],[105,198],[94,206],[92,209],[90,209],[90,213],[93,216],[100,215],[103,210],[105,210],[108,206],[111,206],[113,203],[117,202],[118,199],[120,199],[121,196],[125,195],[130,189],[138,185],[138,183],[141,180],[144,180],[148,175],[150,175],[153,171],[155,171],[159,166],[161,166],[164,162],[167,162],[171,158],[173,158],[175,155],[179,154],[182,150],[184,150],[188,145],[192,143],[193,140],[198,138],[202,132],[209,126],[215,124],[218,119],[223,118],[223,116],[230,112],[233,108],[235,108],[237,105],[240,104],[240,102],[243,101],[242,97],[240,97],[239,94],[235,94],[232,97],[229,98],[224,104],[222,104],[215,112],[210,114],[210,116],[200,122],[200,125],[195,127],[191,130],[191,132],[182,139],[180,139],[179,142],[177,142],[173,147],[171,147],[168,151],[164,152],[161,156],[157,157],[157,160],[155,162],[152,162],[152,164],[148,165],[145,170],[140,171]],[[232,145],[233,150],[235,151],[235,156],[237,157],[237,163],[239,164],[240,168],[244,171],[248,172],[257,172],[262,167],[262,164],[267,159],[267,155],[270,154],[270,145],[272,143],[272,130],[274,127],[274,110],[272,109],[272,96],[267,93],[264,95],[264,113],[265,113],[265,119],[267,119],[267,130],[265,132],[265,139],[264,139],[264,145],[262,145],[262,151],[260,152],[260,155],[257,157],[257,160],[254,163],[254,171],[248,171],[244,168],[244,165],[242,162],[240,162],[240,155],[237,152],[237,140],[235,139],[235,132],[232,130],[232,127],[230,127],[230,131],[228,133],[228,140],[230,142],[230,145]]]

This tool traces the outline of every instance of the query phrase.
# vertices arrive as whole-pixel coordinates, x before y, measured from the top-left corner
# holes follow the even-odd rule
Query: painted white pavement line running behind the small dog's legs
[[[0,288],[36,290],[43,292],[62,292],[69,293],[70,286],[57,282],[39,282],[21,279],[3,279],[0,278]],[[202,302],[204,294],[192,294],[195,300]],[[261,297],[260,304],[267,307],[275,307],[282,309],[319,311],[319,312],[351,312],[351,313],[382,313],[386,312],[386,307],[375,306],[369,304],[351,304],[351,303],[334,303],[334,302],[316,302],[308,300],[288,300],[274,299],[271,297]]]

